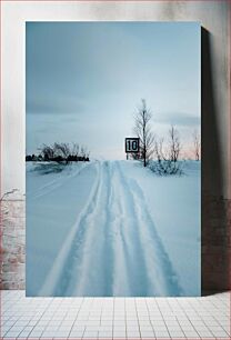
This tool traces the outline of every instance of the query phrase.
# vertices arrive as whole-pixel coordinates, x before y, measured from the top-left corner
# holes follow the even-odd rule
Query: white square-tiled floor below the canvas
[[[26,298],[1,291],[2,339],[230,339],[230,294]]]

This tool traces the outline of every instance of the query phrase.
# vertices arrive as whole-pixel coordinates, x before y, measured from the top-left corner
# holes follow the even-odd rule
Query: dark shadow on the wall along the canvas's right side
[[[230,289],[230,216],[231,202],[224,199],[224,173],[221,163],[220,112],[214,100],[211,63],[211,34],[201,30],[202,76],[202,226],[201,226],[201,289],[202,294]]]

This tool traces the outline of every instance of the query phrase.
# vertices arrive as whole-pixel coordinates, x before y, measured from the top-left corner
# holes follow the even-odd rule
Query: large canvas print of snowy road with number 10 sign
[[[198,22],[27,22],[27,296],[201,294]]]

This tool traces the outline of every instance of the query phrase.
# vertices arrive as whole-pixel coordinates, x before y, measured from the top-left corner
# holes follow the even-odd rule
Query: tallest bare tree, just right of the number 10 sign
[[[134,133],[140,138],[140,158],[143,161],[143,167],[147,167],[153,153],[154,136],[151,131],[152,113],[147,108],[145,100],[141,101],[142,104],[134,117]]]

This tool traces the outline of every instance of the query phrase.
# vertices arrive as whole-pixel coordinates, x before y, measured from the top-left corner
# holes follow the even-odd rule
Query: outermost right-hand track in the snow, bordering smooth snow
[[[143,191],[134,179],[128,179],[125,177],[119,162],[117,162],[117,166],[124,189],[123,193],[128,199],[131,212],[134,214],[137,221],[133,227],[137,229],[137,234],[142,244],[141,252],[144,256],[143,266],[148,274],[148,281],[145,282],[145,279],[143,280],[145,294],[181,296],[182,289],[179,284],[178,276],[148,211]]]

